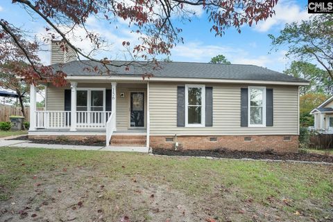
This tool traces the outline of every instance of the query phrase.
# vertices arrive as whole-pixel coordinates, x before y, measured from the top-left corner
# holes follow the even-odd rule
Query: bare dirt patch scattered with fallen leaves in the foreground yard
[[[292,201],[273,197],[256,203],[224,185],[216,185],[207,196],[191,196],[139,175],[110,177],[77,167],[29,178],[9,200],[0,201],[0,221],[293,221],[295,216],[297,221],[310,220],[308,210],[296,210],[298,215],[282,211],[287,205]],[[316,203],[308,207],[316,210]]]

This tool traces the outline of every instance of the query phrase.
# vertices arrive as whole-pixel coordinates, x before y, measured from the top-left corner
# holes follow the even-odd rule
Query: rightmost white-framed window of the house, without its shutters
[[[248,126],[266,126],[266,89],[248,87]]]

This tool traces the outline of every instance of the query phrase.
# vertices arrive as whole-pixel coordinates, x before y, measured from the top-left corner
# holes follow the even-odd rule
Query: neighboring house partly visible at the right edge
[[[314,129],[322,133],[333,134],[333,96],[313,109]]]

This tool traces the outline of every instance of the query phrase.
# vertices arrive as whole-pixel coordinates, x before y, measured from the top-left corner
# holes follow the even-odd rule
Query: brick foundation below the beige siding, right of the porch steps
[[[284,137],[290,137],[290,141],[284,141]],[[151,136],[150,147],[158,149],[172,149],[173,142],[166,142],[166,138],[173,136]],[[216,138],[211,142],[210,138]],[[251,141],[244,141],[251,138]],[[232,150],[265,151],[273,149],[278,152],[297,152],[298,136],[177,136],[177,142],[183,149],[217,149],[226,148]]]

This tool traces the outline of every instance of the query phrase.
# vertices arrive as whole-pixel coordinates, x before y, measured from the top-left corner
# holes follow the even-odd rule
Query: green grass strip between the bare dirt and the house
[[[5,147],[0,149],[0,199],[8,198],[34,174],[78,166],[114,180],[126,176],[149,183],[167,183],[173,189],[198,196],[210,194],[217,185],[256,201],[274,196],[328,202],[333,192],[332,176],[327,176],[332,175],[330,166]]]

